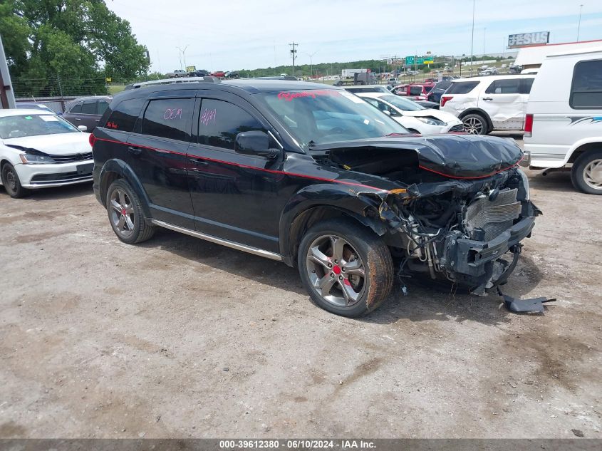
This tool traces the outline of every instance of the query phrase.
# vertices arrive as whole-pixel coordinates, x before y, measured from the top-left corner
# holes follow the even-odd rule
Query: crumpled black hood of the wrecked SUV
[[[413,150],[424,170],[450,178],[482,178],[517,165],[524,154],[514,140],[479,135],[395,135],[312,145],[311,152],[365,147]]]

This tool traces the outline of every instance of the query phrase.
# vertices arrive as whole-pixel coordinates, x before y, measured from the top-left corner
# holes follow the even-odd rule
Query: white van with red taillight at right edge
[[[523,165],[571,167],[576,190],[602,195],[602,46],[547,56],[526,113]]]

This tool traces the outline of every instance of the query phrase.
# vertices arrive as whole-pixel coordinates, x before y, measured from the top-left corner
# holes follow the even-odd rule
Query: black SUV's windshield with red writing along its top
[[[293,90],[259,97],[303,149],[392,133],[408,133],[388,115],[344,90]]]

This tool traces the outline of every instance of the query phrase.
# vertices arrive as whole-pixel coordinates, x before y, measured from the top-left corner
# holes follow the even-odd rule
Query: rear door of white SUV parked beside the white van
[[[525,95],[521,93],[521,78],[492,81],[482,91],[478,107],[489,115],[494,129],[522,130],[526,104]]]

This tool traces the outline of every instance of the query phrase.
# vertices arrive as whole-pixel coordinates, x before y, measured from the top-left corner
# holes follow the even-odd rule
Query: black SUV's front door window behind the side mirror
[[[224,100],[203,99],[199,115],[199,143],[234,150],[238,133],[263,130],[245,110]]]

